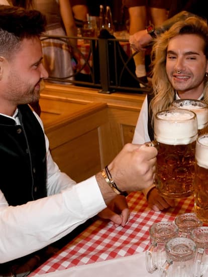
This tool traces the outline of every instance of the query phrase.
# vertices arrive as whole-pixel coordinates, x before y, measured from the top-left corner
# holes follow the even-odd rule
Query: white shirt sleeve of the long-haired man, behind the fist
[[[150,137],[148,133],[148,103],[146,96],[139,114],[132,143],[144,144],[149,141]]]

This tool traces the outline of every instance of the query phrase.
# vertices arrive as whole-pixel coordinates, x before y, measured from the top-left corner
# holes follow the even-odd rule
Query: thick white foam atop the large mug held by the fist
[[[196,115],[185,109],[157,113],[154,119],[155,139],[168,145],[187,145],[197,138]]]

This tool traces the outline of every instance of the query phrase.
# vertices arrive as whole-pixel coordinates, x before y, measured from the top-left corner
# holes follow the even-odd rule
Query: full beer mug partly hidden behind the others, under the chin
[[[172,107],[192,110],[196,114],[198,134],[204,133],[208,126],[208,106],[204,101],[196,99],[178,99],[172,102]]]

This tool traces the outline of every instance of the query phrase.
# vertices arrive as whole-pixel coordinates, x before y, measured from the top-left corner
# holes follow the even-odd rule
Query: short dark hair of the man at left
[[[0,6],[0,56],[10,57],[23,39],[40,37],[46,18],[36,10]]]

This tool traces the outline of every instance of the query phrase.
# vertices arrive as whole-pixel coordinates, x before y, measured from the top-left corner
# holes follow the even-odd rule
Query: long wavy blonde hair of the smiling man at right
[[[168,80],[166,73],[166,55],[169,40],[181,34],[195,34],[204,40],[204,55],[208,60],[208,26],[205,20],[189,17],[179,21],[157,38],[152,49],[152,86],[154,97],[150,102],[150,110],[154,115],[167,109],[175,98],[175,89]],[[208,103],[208,78],[204,74],[204,101]],[[153,119],[153,118],[152,118]]]

